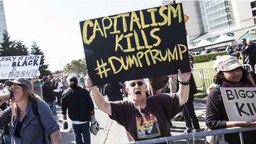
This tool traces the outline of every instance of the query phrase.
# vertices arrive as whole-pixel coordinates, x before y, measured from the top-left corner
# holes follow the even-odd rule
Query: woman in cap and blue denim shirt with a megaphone
[[[9,123],[9,133],[14,144],[60,144],[59,125],[50,107],[32,92],[32,85],[25,78],[7,80],[12,94],[10,107],[0,113],[0,127]],[[37,103],[39,117],[34,113],[32,103]],[[47,142],[46,142],[47,141]]]

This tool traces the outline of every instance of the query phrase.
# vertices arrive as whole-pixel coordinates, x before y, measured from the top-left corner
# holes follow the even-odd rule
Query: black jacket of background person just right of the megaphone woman
[[[54,89],[57,89],[58,87],[58,82],[53,82],[53,83],[43,83],[42,84],[42,91],[43,91],[43,101],[45,102],[50,102],[50,101],[55,101],[56,96],[54,94]]]

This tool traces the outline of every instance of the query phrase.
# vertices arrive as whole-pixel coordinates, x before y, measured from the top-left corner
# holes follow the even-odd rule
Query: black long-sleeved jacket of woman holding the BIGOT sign
[[[211,130],[226,128],[226,121],[229,121],[229,117],[226,113],[220,88],[213,87],[207,97],[206,126]],[[245,144],[256,144],[255,130],[242,132],[242,135]],[[240,144],[239,133],[225,134],[224,137],[226,144]],[[219,135],[218,141],[222,144],[221,135]]]

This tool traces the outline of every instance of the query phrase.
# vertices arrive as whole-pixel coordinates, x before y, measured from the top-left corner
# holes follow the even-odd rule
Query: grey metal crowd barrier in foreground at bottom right
[[[206,131],[206,132],[190,133],[190,134],[186,134],[186,135],[176,135],[176,136],[170,136],[170,137],[147,139],[147,140],[141,140],[141,141],[136,141],[136,142],[129,142],[127,144],[158,144],[158,143],[167,143],[167,144],[169,144],[169,142],[174,142],[174,141],[184,140],[184,139],[186,139],[187,144],[189,144],[190,143],[189,139],[194,140],[194,138],[201,138],[201,137],[204,138],[204,143],[205,144],[209,144],[206,141],[206,136],[222,135],[222,138],[224,139],[224,134],[228,134],[228,133],[239,133],[240,134],[240,142],[241,142],[241,144],[244,144],[243,138],[242,138],[242,132],[251,131],[251,130],[256,130],[256,127],[223,128],[223,129],[219,129],[219,130],[210,130],[210,131]],[[223,140],[223,144],[225,144],[224,140]]]

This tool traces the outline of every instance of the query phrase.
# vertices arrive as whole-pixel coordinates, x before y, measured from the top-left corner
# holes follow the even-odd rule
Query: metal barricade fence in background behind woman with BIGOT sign
[[[250,64],[243,64],[247,71],[252,70],[252,66]],[[256,69],[256,65],[254,66]],[[213,78],[216,75],[216,71],[213,67],[205,67],[201,70],[198,68],[193,69],[193,76],[197,86],[197,89],[202,89],[202,96],[206,93],[206,89],[213,83]]]

